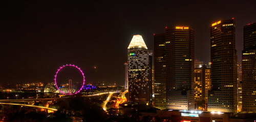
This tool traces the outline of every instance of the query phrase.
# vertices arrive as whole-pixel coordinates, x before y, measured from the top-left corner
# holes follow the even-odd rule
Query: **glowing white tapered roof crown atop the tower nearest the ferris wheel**
[[[132,39],[130,45],[128,46],[128,49],[130,49],[130,48],[145,48],[145,49],[147,49],[146,44],[141,35],[133,36],[133,39]]]

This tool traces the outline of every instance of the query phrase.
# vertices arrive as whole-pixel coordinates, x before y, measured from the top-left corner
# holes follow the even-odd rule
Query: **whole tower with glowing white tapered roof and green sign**
[[[150,102],[150,61],[142,36],[134,35],[128,47],[129,100]]]

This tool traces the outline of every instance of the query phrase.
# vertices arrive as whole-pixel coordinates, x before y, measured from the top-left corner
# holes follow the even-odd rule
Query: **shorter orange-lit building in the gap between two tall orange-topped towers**
[[[197,109],[207,108],[208,90],[210,90],[210,69],[203,65],[201,68],[195,69],[195,103]]]

